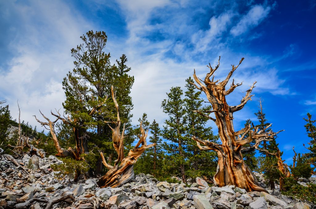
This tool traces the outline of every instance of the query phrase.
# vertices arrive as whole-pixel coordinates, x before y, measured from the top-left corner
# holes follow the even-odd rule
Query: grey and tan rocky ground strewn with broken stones
[[[201,178],[188,187],[184,183],[159,182],[151,175],[139,174],[123,187],[99,188],[97,179],[77,183],[67,177],[58,180],[50,168],[53,163],[62,162],[52,155],[43,159],[0,155],[0,208],[316,208],[312,203],[293,200],[277,190],[269,190],[268,194],[246,192],[235,186],[209,187]],[[255,175],[264,186],[262,176]]]

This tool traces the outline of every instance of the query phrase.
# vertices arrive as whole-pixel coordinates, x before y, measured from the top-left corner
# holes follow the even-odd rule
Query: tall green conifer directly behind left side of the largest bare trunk
[[[203,106],[204,100],[201,98],[201,92],[196,91],[195,86],[192,84],[193,79],[189,77],[186,81],[186,91],[184,99],[184,108],[186,116],[186,152],[187,152],[187,164],[189,166],[186,169],[188,177],[195,179],[196,177],[206,177],[210,179],[216,171],[217,158],[214,151],[201,151],[197,147],[197,143],[191,138],[191,136],[197,136],[203,140],[210,140],[216,142],[218,136],[213,135],[212,127],[206,127],[208,119],[201,116],[194,110],[210,111],[212,108],[210,105]]]

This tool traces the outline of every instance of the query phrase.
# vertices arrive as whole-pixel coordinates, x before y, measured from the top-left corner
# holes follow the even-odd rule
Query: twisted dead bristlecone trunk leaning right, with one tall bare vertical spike
[[[118,158],[114,161],[114,166],[106,163],[106,160],[101,152],[101,158],[104,166],[109,169],[104,176],[102,176],[98,185],[100,188],[104,187],[119,187],[123,184],[130,182],[134,177],[134,164],[137,159],[141,156],[141,154],[149,147],[155,146],[155,144],[147,145],[146,137],[148,130],[145,131],[142,127],[142,122],[140,123],[140,130],[142,135],[138,135],[139,141],[136,146],[128,152],[128,155],[124,156],[124,132],[125,132],[125,124],[123,126],[123,130],[120,133],[121,120],[119,117],[119,105],[116,101],[115,94],[113,91],[113,86],[111,88],[112,99],[114,101],[116,110],[117,110],[117,121],[112,122],[115,124],[115,128],[109,127],[112,129],[112,141],[115,151],[118,154]],[[140,146],[142,144],[142,146]]]

